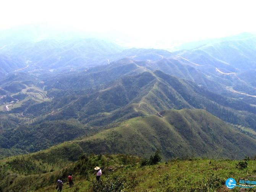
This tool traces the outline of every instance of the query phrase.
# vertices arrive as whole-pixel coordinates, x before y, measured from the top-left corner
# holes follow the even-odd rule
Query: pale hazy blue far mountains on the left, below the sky
[[[88,68],[109,63],[111,55],[121,52],[123,48],[97,39],[71,39],[67,41],[42,40],[39,42],[18,42],[3,45],[0,54],[19,58],[19,65],[27,66],[26,71]],[[2,66],[2,73],[11,72],[8,68],[19,69],[16,66]]]

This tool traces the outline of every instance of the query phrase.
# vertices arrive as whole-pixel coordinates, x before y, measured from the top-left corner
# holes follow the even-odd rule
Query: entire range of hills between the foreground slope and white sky
[[[156,149],[166,159],[253,155],[255,50],[250,34],[177,52],[99,39],[6,38],[0,157],[69,140],[84,152],[141,157]]]

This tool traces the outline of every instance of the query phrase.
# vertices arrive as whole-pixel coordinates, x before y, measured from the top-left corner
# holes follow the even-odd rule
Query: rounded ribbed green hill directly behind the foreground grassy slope
[[[253,155],[256,140],[204,110],[166,110],[129,119],[79,142],[86,152],[148,157],[157,148],[165,158],[182,155],[241,158]]]

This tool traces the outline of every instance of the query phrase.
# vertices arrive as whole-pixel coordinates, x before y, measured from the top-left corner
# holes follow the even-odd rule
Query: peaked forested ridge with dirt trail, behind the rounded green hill
[[[47,92],[47,97],[51,93]],[[256,125],[253,106],[161,71],[123,76],[101,89],[61,91],[47,101],[29,97],[31,100],[19,101],[15,104],[19,107],[3,113],[0,147],[35,152],[127,119],[170,109],[205,109],[228,123],[253,129]]]

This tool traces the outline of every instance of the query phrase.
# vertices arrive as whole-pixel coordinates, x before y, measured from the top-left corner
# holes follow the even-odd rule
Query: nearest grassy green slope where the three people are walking
[[[253,180],[256,172],[254,158],[237,161],[186,157],[141,166],[140,158],[120,154],[80,155],[77,161],[70,162],[64,159],[65,156],[58,157],[51,153],[52,160],[57,160],[53,162],[42,154],[50,151],[1,160],[0,191],[54,192],[57,179],[64,181],[64,191],[68,192],[228,191],[226,179],[232,177],[237,182],[239,179]],[[65,152],[67,155],[71,152],[70,157],[78,154],[79,150],[73,146]],[[23,163],[18,163],[21,160]],[[65,163],[58,166],[57,162],[61,160]],[[239,166],[242,163],[246,166]],[[50,165],[49,169],[47,165]],[[95,166],[104,168],[99,183],[95,179]],[[73,173],[75,183],[71,188],[67,183],[69,173]],[[232,191],[239,189],[235,187]]]

